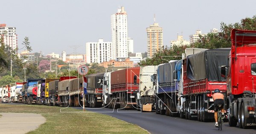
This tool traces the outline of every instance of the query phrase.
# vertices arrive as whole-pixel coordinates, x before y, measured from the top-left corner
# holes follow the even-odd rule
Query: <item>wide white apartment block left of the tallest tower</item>
[[[112,49],[112,42],[104,42],[103,39],[99,39],[98,42],[86,43],[87,63],[102,63],[112,60]]]

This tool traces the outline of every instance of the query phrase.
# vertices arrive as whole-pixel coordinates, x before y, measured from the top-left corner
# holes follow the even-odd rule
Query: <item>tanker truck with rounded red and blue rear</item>
[[[40,103],[42,97],[41,95],[41,83],[43,79],[28,79],[27,80],[27,104],[36,104]]]

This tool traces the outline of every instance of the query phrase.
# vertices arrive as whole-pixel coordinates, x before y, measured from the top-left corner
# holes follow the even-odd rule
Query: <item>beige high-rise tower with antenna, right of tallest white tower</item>
[[[157,51],[163,49],[163,28],[154,23],[147,28],[148,58],[153,57]]]

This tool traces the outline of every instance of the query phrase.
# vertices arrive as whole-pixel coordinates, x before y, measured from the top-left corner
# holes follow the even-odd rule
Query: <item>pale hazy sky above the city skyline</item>
[[[220,23],[238,23],[256,15],[256,0],[1,0],[0,24],[16,27],[18,47],[29,37],[32,52],[85,54],[87,42],[111,42],[111,14],[127,12],[134,52],[147,51],[146,28],[163,28],[163,44],[177,34],[189,40],[196,30],[208,33]],[[20,50],[21,51],[21,50]]]

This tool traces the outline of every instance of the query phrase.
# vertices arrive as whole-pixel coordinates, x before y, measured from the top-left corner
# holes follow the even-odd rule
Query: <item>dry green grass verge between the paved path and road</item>
[[[61,107],[45,105],[0,104],[0,112],[36,113],[46,118],[46,123],[28,134],[147,134],[137,125],[99,113],[61,113]],[[67,108],[62,111],[82,111]]]

